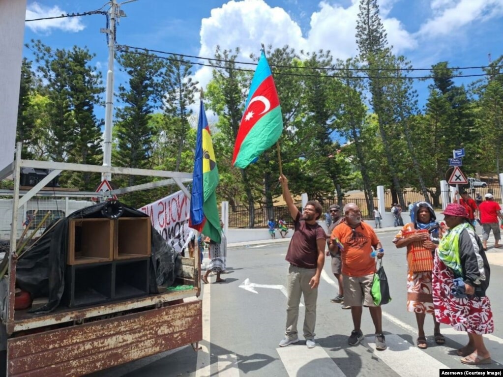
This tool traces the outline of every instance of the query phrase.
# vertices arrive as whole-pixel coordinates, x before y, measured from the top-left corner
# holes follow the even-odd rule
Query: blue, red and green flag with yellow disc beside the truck
[[[210,128],[203,100],[199,109],[197,125],[194,173],[192,176],[192,194],[190,201],[189,226],[220,243],[220,217],[218,216],[216,187],[218,168],[211,141]]]

